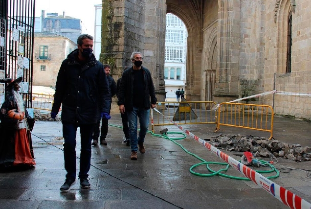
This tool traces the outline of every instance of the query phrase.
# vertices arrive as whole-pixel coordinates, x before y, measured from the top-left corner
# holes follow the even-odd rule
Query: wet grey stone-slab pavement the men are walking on
[[[146,153],[137,153],[137,161],[130,160],[130,147],[123,143],[122,120],[112,114],[108,145],[92,147],[89,171],[90,189],[82,189],[77,177],[68,192],[61,192],[65,181],[63,138],[61,122],[37,121],[32,131],[36,167],[27,171],[0,173],[0,208],[23,209],[283,209],[288,208],[261,186],[220,176],[203,177],[190,173],[191,166],[201,161],[188,152],[208,162],[222,160],[190,137],[172,140],[147,133]],[[222,134],[242,134],[268,137],[269,133],[243,128],[215,125],[184,125],[184,128],[201,139]],[[155,134],[168,128],[176,132],[170,137],[181,138],[181,131],[173,126],[155,126]],[[275,117],[273,136],[289,143],[311,146],[311,124],[283,117]],[[181,146],[179,146],[178,144]],[[188,152],[186,152],[186,151]],[[80,156],[80,134],[77,133],[77,165]],[[231,157],[240,160],[230,152]],[[269,159],[263,159],[269,160]],[[223,168],[213,165],[214,170]],[[278,158],[275,167],[280,176],[272,181],[311,203],[311,162],[296,163]],[[256,169],[256,168],[254,168]],[[257,168],[265,169],[265,168]],[[205,166],[195,168],[201,174],[209,173]],[[78,172],[77,172],[78,173]],[[229,175],[244,177],[234,168]],[[275,175],[275,174],[263,174]],[[309,176],[308,176],[309,175]]]

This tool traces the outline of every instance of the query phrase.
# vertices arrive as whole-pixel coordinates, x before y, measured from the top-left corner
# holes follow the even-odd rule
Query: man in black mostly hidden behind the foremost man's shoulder
[[[108,83],[109,83],[109,89],[111,92],[111,97],[115,95],[115,81],[113,80],[113,78],[110,75],[110,65],[104,64],[104,70],[108,79]],[[110,103],[110,108],[109,108],[109,114],[110,114],[110,110],[111,110],[111,103]],[[92,145],[97,146],[98,144],[98,138],[99,138],[99,127],[100,127],[100,118],[98,120],[98,122],[94,125],[94,130],[93,130],[93,143]],[[100,144],[104,144],[107,145],[107,141],[106,141],[106,137],[108,134],[108,119],[106,117],[102,118],[102,126],[100,129]]]

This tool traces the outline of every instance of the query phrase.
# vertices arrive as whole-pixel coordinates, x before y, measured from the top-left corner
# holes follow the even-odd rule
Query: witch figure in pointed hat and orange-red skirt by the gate
[[[33,125],[25,109],[19,83],[22,77],[0,79],[6,83],[5,100],[0,109],[0,171],[27,169],[36,164],[33,155],[29,124]],[[30,123],[31,121],[31,123]]]

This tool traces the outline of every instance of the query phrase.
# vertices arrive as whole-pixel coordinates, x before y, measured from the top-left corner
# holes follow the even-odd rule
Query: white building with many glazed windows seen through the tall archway
[[[166,14],[164,80],[166,98],[176,99],[176,90],[185,89],[187,29],[175,15]]]

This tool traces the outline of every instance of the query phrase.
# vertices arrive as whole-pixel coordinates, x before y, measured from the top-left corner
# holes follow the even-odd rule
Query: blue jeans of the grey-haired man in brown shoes
[[[129,122],[129,133],[130,133],[130,143],[131,150],[138,150],[137,144],[143,143],[145,141],[145,136],[148,131],[149,126],[149,113],[150,109],[136,108],[133,107],[133,111],[126,112],[128,115]],[[137,139],[137,117],[139,118],[140,131]]]

